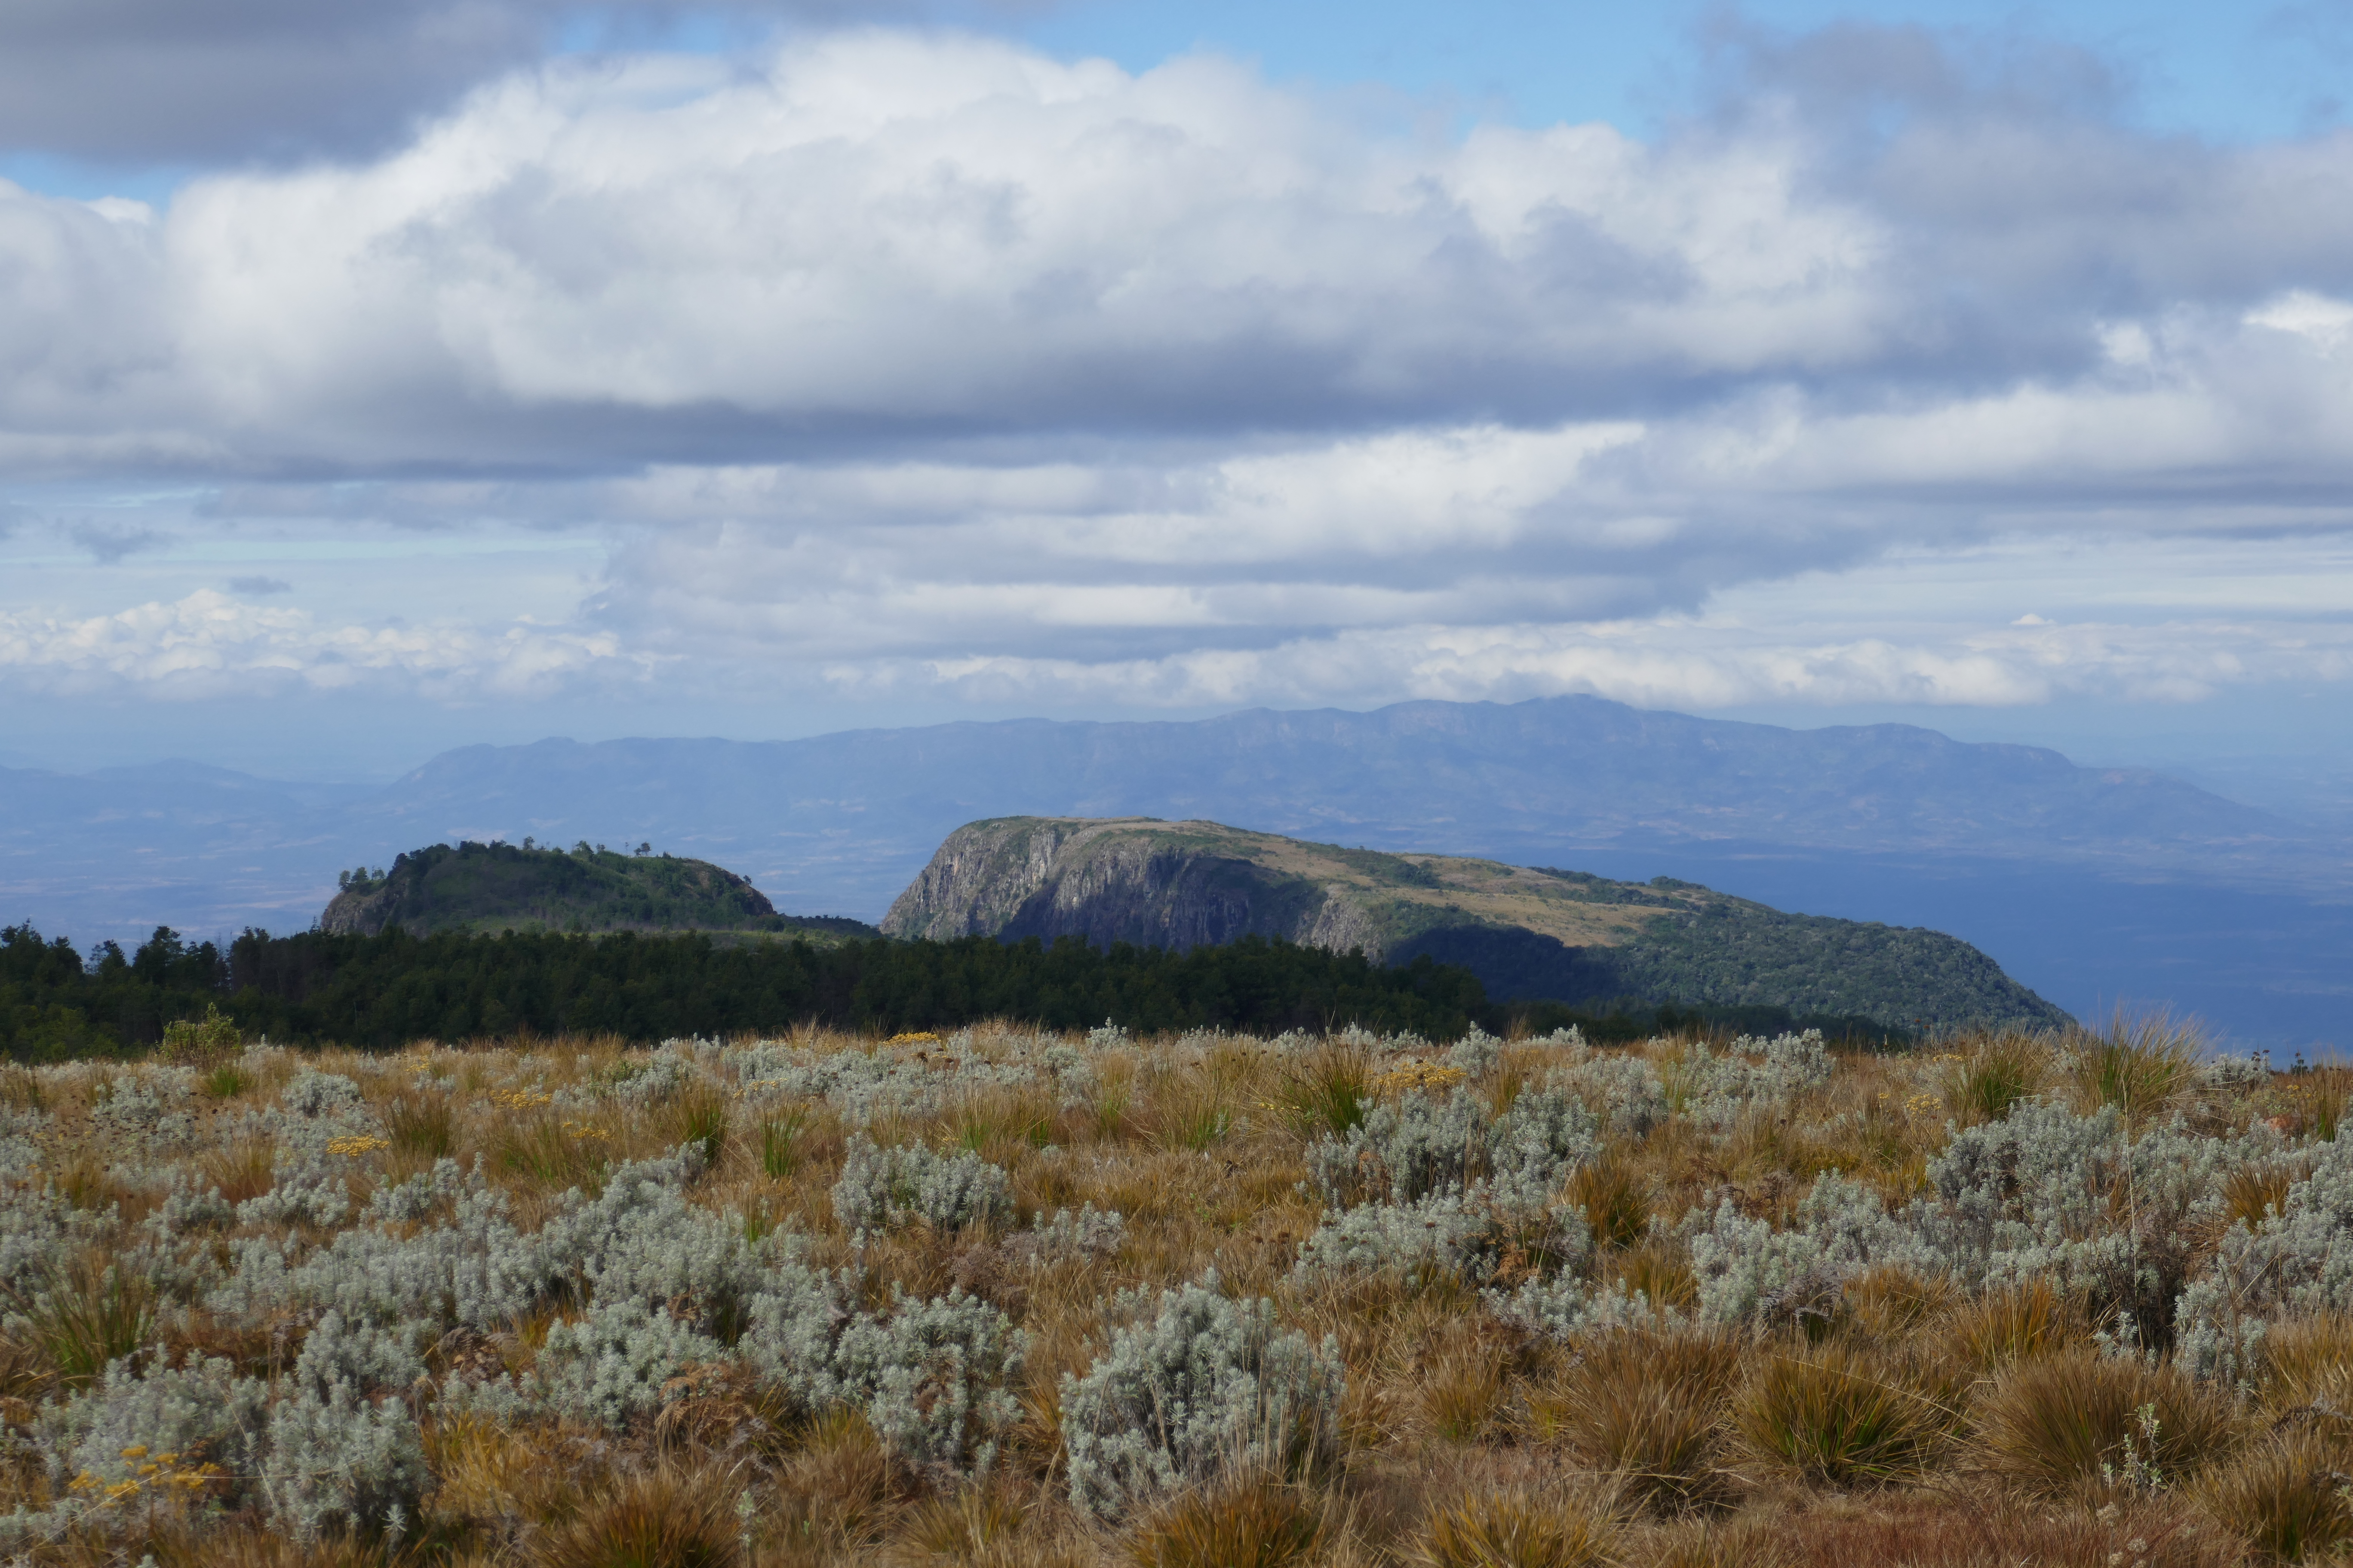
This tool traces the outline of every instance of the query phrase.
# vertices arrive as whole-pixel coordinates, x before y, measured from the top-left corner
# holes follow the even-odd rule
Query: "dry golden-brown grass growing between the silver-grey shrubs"
[[[1558,1197],[1586,1213],[1595,1281],[1689,1312],[1697,1281],[1675,1227],[1692,1208],[1732,1201],[1786,1225],[1828,1168],[1871,1180],[1892,1201],[1908,1199],[1948,1121],[1998,1117],[2028,1093],[2113,1103],[2139,1124],[2184,1112],[2228,1114],[2231,1126],[2264,1114],[2306,1128],[2337,1114],[2325,1093],[2299,1091],[2306,1079],[2285,1077],[2285,1088],[2261,1091],[2271,1100],[2217,1107],[2181,1065],[2184,1039],[2179,1030],[2122,1027],[2073,1041],[2073,1056],[2047,1039],[1986,1037],[1953,1041],[1944,1056],[1955,1060],[1842,1058],[1828,1084],[1727,1128],[1689,1117],[1647,1131],[1619,1124],[1605,1157],[1574,1171]],[[805,1044],[899,1060],[941,1051],[941,1041],[828,1034]],[[958,1051],[967,1044],[988,1060],[1035,1048],[1019,1030],[981,1030]],[[1649,1041],[1628,1056],[1654,1063],[1680,1093],[1675,1077],[1692,1041]],[[1574,1058],[1548,1041],[1513,1041],[1487,1072],[1461,1081],[1482,1105],[1506,1107]],[[1678,1331],[1593,1333],[1572,1345],[1506,1328],[1475,1281],[1294,1279],[1299,1244],[1320,1218],[1306,1182],[1308,1143],[1402,1093],[1405,1079],[1391,1074],[1442,1091],[1457,1070],[1440,1051],[1417,1051],[1414,1065],[1400,1067],[1407,1058],[1348,1039],[1294,1056],[1259,1041],[1139,1039],[1096,1053],[1092,1074],[1068,1093],[981,1084],[920,1110],[882,1110],[871,1124],[776,1084],[732,1081],[708,1065],[715,1058],[701,1060],[673,1093],[593,1100],[598,1086],[642,1070],[645,1053],[612,1039],[376,1058],[249,1053],[224,1065],[235,1084],[191,1100],[200,1150],[191,1164],[231,1201],[266,1192],[275,1180],[271,1145],[228,1131],[304,1065],[351,1077],[384,1124],[391,1147],[351,1159],[355,1199],[376,1178],[480,1157],[527,1229],[569,1190],[595,1192],[619,1161],[699,1143],[711,1161],[689,1201],[739,1215],[751,1234],[795,1232],[816,1267],[854,1265],[868,1305],[887,1305],[894,1286],[918,1295],[962,1288],[1014,1316],[1026,1335],[1026,1361],[1009,1382],[1019,1415],[998,1434],[984,1481],[958,1488],[918,1474],[854,1413],[807,1418],[748,1378],[713,1375],[626,1432],[445,1420],[426,1401],[433,1488],[398,1549],[384,1540],[304,1549],[231,1519],[202,1530],[158,1528],[136,1542],[61,1542],[42,1561],[1991,1568],[2111,1563],[2122,1554],[2115,1568],[2219,1568],[2249,1552],[2311,1561],[2353,1540],[2332,1481],[2353,1474],[2337,1458],[2353,1441],[2339,1432],[2353,1422],[2337,1418],[2353,1410],[2353,1319],[2278,1324],[2254,1368],[2254,1406],[2231,1410],[2228,1399],[2165,1366],[2092,1354],[2085,1300],[2045,1279],[1965,1293],[1946,1279],[1875,1269],[1824,1295],[1819,1342]],[[134,1072],[0,1072],[0,1103],[40,1105],[59,1126],[75,1126],[108,1079]],[[1014,1227],[951,1234],[908,1225],[852,1248],[831,1199],[852,1131],[995,1161],[1009,1175]],[[155,1201],[115,1157],[68,1157],[52,1168],[89,1215],[120,1206],[136,1222]],[[2259,1220],[2297,1175],[2292,1159],[2235,1173],[2224,1218]],[[1085,1204],[1125,1215],[1115,1253],[1024,1251],[1019,1232],[1033,1218]],[[221,1234],[207,1244],[219,1246]],[[1231,1479],[1122,1526],[1075,1514],[1061,1450],[1064,1380],[1085,1375],[1104,1352],[1108,1298],[1212,1267],[1231,1291],[1271,1298],[1285,1328],[1337,1345],[1346,1368],[1339,1467],[1313,1486]],[[104,1281],[80,1295],[104,1302]],[[146,1309],[160,1312],[153,1302]],[[581,1305],[492,1335],[452,1335],[428,1366],[433,1375],[466,1366],[529,1378],[558,1309],[576,1314]],[[294,1319],[224,1324],[176,1305],[162,1319],[160,1338],[176,1354],[224,1354],[264,1378],[285,1375],[308,1328]],[[64,1349],[26,1324],[0,1335],[0,1420],[24,1429],[42,1396],[104,1368],[120,1335],[104,1321],[82,1328]],[[2141,1455],[2155,1490],[2141,1472],[2141,1481],[2113,1479],[2125,1439],[2141,1441],[2144,1406],[2158,1408],[2153,1453]],[[38,1467],[0,1467],[0,1509],[42,1507],[47,1486]]]

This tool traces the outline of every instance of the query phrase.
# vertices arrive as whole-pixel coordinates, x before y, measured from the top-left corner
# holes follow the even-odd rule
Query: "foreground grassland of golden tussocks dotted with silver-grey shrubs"
[[[2337,1072],[981,1027],[0,1074],[0,1561],[2353,1542]]]

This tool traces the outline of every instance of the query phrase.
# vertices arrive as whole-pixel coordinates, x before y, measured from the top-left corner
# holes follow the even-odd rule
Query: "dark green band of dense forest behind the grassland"
[[[513,1034],[682,1034],[941,1030],[1016,1018],[1049,1030],[1104,1020],[1139,1032],[1224,1027],[1257,1034],[1362,1025],[1452,1039],[1473,1023],[1595,1039],[1659,1027],[1889,1034],[1864,1020],[1791,1018],[1781,1009],[1487,1001],[1464,969],[1417,959],[1398,969],[1358,954],[1245,938],[1224,947],[1089,947],[1078,938],[729,943],[704,933],[602,938],[525,933],[414,938],[268,936],[247,931],[224,952],[169,929],[136,952],[101,943],[87,957],[33,926],[0,929],[0,1051],[14,1060],[120,1056],[151,1048],[167,1023],[226,1011],[247,1037],[282,1044],[398,1048],[414,1039]]]

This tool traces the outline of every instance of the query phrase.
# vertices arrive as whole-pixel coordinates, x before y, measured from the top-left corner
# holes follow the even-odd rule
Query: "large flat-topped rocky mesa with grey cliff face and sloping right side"
[[[1377,964],[1428,954],[1473,971],[1492,999],[1758,1004],[1899,1027],[2066,1020],[1937,931],[1784,914],[1668,877],[1609,882],[1141,816],[967,823],[882,931],[1179,950],[1264,936]]]

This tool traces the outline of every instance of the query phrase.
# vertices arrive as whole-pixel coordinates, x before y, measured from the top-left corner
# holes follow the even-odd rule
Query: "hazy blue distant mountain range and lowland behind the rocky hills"
[[[0,771],[0,919],[80,943],[158,922],[301,929],[339,867],[525,835],[652,842],[746,872],[779,910],[878,919],[951,830],[991,816],[1209,818],[1671,875],[1781,910],[1951,931],[2071,1011],[2174,1001],[2247,1039],[2308,1044],[2353,1004],[2341,837],[2040,748],[1600,698],[539,741],[445,752],[376,790],[193,764]]]

